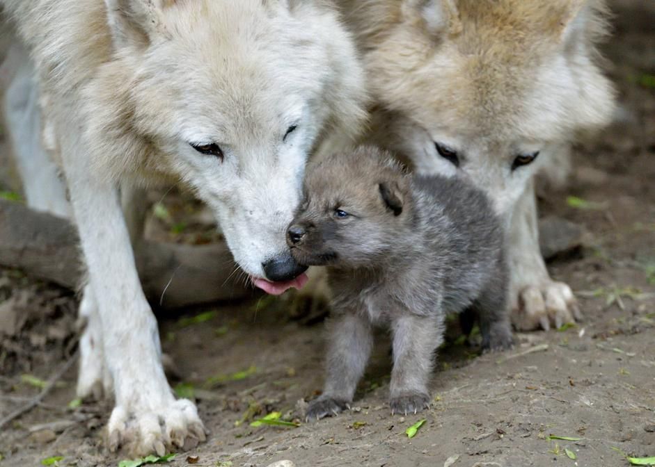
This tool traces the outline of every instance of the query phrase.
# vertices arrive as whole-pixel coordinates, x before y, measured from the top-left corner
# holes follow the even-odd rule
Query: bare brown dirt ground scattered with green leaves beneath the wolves
[[[569,186],[542,199],[544,213],[587,232],[583,247],[549,265],[578,293],[585,322],[519,334],[516,349],[484,356],[452,329],[434,372],[432,408],[406,417],[386,406],[390,347],[381,334],[354,409],[306,424],[303,400],[322,387],[321,316],[289,316],[284,303],[259,296],[160,313],[171,384],[196,399],[210,430],[207,443],[168,465],[197,456],[198,466],[289,459],[299,467],[441,467],[450,458],[454,467],[613,467],[629,465],[614,448],[655,456],[655,83],[647,78],[655,74],[655,8],[647,3],[621,2],[606,46],[620,88],[618,122],[577,148]],[[175,224],[170,235],[183,230]],[[72,358],[76,305],[68,290],[1,273],[0,418]],[[73,367],[0,432],[0,466],[38,466],[53,456],[63,457],[59,466],[116,466],[125,458],[103,447],[111,403],[68,407],[75,378]],[[250,426],[271,411],[301,425]],[[405,430],[422,419],[409,439]]]

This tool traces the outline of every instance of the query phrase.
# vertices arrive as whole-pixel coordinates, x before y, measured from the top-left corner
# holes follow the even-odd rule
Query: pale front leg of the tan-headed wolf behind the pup
[[[555,282],[539,251],[539,224],[534,181],[526,187],[514,208],[508,243],[512,322],[517,329],[531,330],[551,324],[581,320],[571,288]]]

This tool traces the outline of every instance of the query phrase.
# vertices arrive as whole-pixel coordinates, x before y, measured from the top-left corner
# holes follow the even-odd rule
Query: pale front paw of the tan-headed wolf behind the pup
[[[512,324],[521,331],[539,327],[548,331],[551,325],[558,329],[567,322],[582,319],[571,288],[563,282],[551,280],[519,290],[518,306],[512,310]]]

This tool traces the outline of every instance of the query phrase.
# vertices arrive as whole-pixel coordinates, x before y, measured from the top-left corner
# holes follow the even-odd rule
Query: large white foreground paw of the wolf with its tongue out
[[[161,407],[136,405],[128,410],[116,406],[107,431],[110,451],[125,448],[135,457],[153,453],[163,456],[176,449],[190,450],[206,439],[205,426],[194,403],[187,399],[175,400],[172,396]]]

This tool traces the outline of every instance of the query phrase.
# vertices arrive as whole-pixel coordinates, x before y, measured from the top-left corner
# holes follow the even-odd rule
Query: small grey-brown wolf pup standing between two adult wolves
[[[411,177],[374,147],[322,158],[308,168],[287,243],[300,264],[328,266],[334,294],[327,381],[308,419],[348,407],[372,325],[393,331],[392,413],[429,406],[449,313],[478,316],[484,350],[512,345],[503,229],[487,197],[462,180]]]

